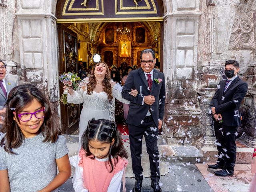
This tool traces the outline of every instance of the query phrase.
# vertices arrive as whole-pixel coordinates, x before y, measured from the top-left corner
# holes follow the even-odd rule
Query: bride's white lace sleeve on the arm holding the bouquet
[[[84,94],[84,91],[86,91],[86,89],[87,89],[88,82],[89,82],[89,77],[84,78],[80,82],[80,84],[78,86],[78,89],[75,90],[72,95],[70,95],[68,93],[67,102],[68,103],[74,103],[74,104],[82,103],[84,101],[83,100],[83,94]]]

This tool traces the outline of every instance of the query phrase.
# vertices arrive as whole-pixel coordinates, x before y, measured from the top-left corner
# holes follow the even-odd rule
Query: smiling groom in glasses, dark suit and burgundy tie
[[[162,192],[159,186],[159,152],[157,147],[158,130],[162,127],[165,104],[164,74],[154,69],[155,52],[145,49],[140,54],[141,68],[129,73],[122,90],[122,97],[129,100],[130,107],[127,124],[130,137],[132,170],[135,174],[133,192],[140,192],[142,187],[142,138],[145,137],[150,162],[151,186],[154,192]],[[140,94],[133,97],[132,89]]]

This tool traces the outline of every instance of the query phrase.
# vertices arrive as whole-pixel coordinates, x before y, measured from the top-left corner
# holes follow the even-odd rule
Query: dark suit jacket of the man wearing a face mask
[[[241,126],[239,108],[248,85],[239,77],[235,78],[224,92],[226,80],[220,81],[213,97],[213,106],[216,114],[221,114],[222,124],[226,126]]]

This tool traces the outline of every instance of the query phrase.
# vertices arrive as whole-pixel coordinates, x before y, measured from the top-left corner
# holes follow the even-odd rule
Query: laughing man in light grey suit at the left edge
[[[5,80],[6,64],[0,60],[0,115],[5,112],[5,103],[10,90],[16,87],[16,83],[13,81]],[[0,124],[2,124],[2,116],[0,116]]]

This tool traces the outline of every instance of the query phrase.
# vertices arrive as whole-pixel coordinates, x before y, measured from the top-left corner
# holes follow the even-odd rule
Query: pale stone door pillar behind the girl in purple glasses
[[[58,105],[56,0],[17,3],[21,82],[36,84]]]

